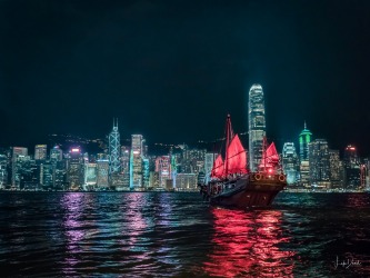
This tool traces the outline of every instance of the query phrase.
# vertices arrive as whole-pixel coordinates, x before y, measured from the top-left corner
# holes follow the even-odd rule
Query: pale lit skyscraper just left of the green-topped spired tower
[[[282,167],[287,173],[287,182],[294,185],[299,175],[299,159],[293,142],[284,142],[282,147]]]

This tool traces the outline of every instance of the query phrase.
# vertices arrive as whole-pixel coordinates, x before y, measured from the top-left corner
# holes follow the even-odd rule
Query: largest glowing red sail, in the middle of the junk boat
[[[239,136],[236,135],[228,147],[228,158],[226,161],[226,175],[246,173],[247,172],[247,155]]]

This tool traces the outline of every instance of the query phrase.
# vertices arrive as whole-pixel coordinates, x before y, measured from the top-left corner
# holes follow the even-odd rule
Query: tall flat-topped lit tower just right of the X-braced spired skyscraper
[[[141,190],[142,183],[142,135],[131,136],[130,188]]]

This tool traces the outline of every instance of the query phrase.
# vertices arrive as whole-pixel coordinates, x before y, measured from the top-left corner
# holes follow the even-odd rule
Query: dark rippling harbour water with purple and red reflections
[[[236,211],[199,193],[0,193],[0,275],[370,277],[370,197]]]

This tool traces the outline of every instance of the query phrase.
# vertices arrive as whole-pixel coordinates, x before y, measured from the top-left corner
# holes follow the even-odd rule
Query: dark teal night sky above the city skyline
[[[0,0],[0,147],[48,133],[194,142],[248,127],[370,155],[370,1]]]

